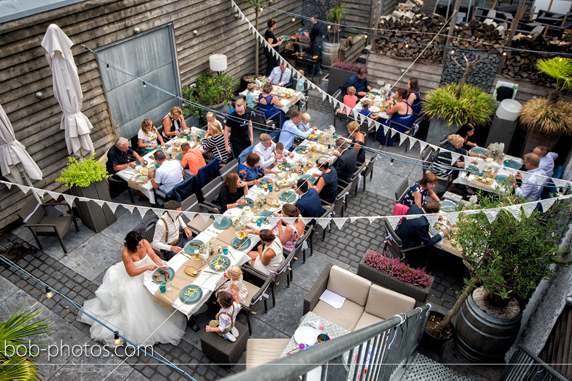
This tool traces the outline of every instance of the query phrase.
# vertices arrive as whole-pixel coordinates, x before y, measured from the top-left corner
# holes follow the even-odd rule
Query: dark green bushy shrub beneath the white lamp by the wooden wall
[[[219,105],[220,103],[230,106],[233,98],[232,90],[238,83],[237,79],[228,75],[210,75],[208,71],[205,71],[197,78],[196,87],[185,86],[182,93],[185,99],[202,106]],[[201,110],[197,107],[185,105],[184,109],[195,117],[200,117]]]

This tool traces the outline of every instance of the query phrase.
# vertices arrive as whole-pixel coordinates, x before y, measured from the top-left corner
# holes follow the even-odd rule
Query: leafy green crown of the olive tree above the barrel
[[[478,206],[496,208],[519,204],[525,200],[510,195],[509,187],[501,195],[479,194]],[[457,220],[459,232],[454,246],[462,250],[470,266],[472,279],[484,290],[502,298],[526,298],[541,279],[550,278],[553,263],[563,264],[558,248],[563,216],[570,213],[570,202],[557,201],[544,214],[533,212],[529,218],[521,211],[521,220],[501,209],[489,222],[483,212],[462,215]]]

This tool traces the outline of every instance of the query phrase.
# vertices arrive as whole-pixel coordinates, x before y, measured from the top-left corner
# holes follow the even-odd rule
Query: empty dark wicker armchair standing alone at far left
[[[69,211],[69,215],[61,216],[49,216],[46,212],[45,206],[56,206],[65,205]],[[72,213],[72,207],[65,202],[57,202],[50,204],[39,204],[38,200],[30,197],[23,208],[18,212],[19,218],[24,221],[24,226],[29,228],[36,243],[38,243],[38,248],[42,250],[42,244],[39,243],[38,235],[42,236],[56,236],[63,248],[63,252],[67,255],[67,248],[63,243],[63,236],[66,234],[70,225],[74,224],[76,226],[76,232],[80,231],[80,227],[77,226],[76,217]]]

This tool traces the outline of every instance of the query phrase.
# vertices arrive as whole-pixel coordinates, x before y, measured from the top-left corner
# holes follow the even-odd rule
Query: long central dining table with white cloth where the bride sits
[[[314,150],[312,150],[312,147],[314,147]],[[315,163],[315,160],[320,156],[330,157],[333,162],[336,159],[335,156],[332,156],[333,151],[335,151],[335,148],[328,146],[327,143],[306,139],[300,144],[300,146],[293,150],[293,158],[287,158],[286,163],[292,168],[297,165],[297,163],[304,162],[303,158],[306,159],[305,161],[307,163]],[[212,292],[217,290],[217,288],[227,280],[223,275],[225,268],[228,267],[226,266],[227,264],[229,266],[241,266],[242,264],[249,262],[250,257],[248,256],[248,252],[256,247],[260,238],[258,235],[250,234],[243,240],[239,240],[239,243],[244,242],[242,243],[242,246],[235,248],[233,243],[235,243],[236,246],[236,242],[233,240],[238,239],[237,233],[241,230],[272,229],[276,226],[276,223],[271,223],[267,218],[265,218],[263,212],[269,211],[273,213],[280,211],[283,204],[296,204],[297,202],[298,195],[293,191],[293,187],[295,187],[296,182],[293,181],[293,179],[287,184],[284,184],[283,187],[279,187],[279,189],[276,190],[276,185],[280,180],[287,182],[287,179],[291,178],[289,174],[292,174],[292,171],[284,169],[283,164],[284,163],[277,163],[272,167],[272,170],[280,170],[281,172],[284,172],[284,178],[275,174],[267,174],[263,177],[263,179],[267,180],[272,179],[273,191],[265,190],[263,185],[253,185],[248,190],[248,194],[246,194],[244,198],[251,200],[253,203],[250,211],[248,211],[248,208],[245,208],[244,206],[233,207],[225,211],[221,216],[215,216],[214,219],[209,219],[209,224],[206,229],[190,239],[184,249],[178,252],[167,262],[168,266],[172,268],[172,271],[174,272],[174,276],[171,278],[173,286],[172,290],[161,292],[159,284],[153,279],[154,272],[145,272],[144,286],[153,295],[154,302],[169,310],[175,308],[190,318],[190,316],[196,314],[199,308],[209,299]],[[312,166],[310,169],[307,168],[304,174],[311,176],[314,173],[319,173],[319,171],[317,171],[315,166]],[[263,182],[265,181],[263,180]],[[261,182],[261,184],[263,184],[263,182]],[[283,192],[292,192],[292,194],[289,194],[289,198],[285,197],[286,195],[281,197],[280,195],[282,195]],[[267,200],[265,203],[257,206],[256,200],[259,195],[263,196]],[[271,204],[268,200],[274,200],[274,202]],[[249,201],[248,203],[251,202]],[[261,213],[263,213],[263,215],[259,216]],[[229,226],[227,226],[229,223],[228,221],[223,222],[225,218],[231,222]],[[256,224],[257,219],[261,220],[260,227]],[[239,226],[240,223],[243,224],[240,228],[236,227],[237,220],[239,221]],[[203,244],[210,241],[215,243],[215,254],[209,255],[207,263],[204,263],[202,259],[195,259],[194,249],[197,248],[197,246],[189,243],[196,240]],[[227,247],[228,254],[224,255],[216,253],[219,246]],[[213,261],[213,263],[220,263],[221,260],[216,261],[216,258],[219,255],[223,258],[225,266],[216,269],[216,265],[213,266],[211,263]],[[185,272],[186,267],[194,267],[194,270],[198,271],[198,275],[192,276],[188,274]],[[189,298],[185,297],[185,294],[189,294],[188,292],[185,292],[185,289],[190,288],[195,290],[197,287],[200,287],[201,290],[200,298],[197,296],[196,298],[190,299],[192,300],[191,303],[185,303],[183,300],[186,299],[189,301]]]

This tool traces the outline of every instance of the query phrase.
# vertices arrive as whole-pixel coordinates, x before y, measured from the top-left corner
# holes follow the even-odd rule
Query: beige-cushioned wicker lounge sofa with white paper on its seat
[[[334,308],[319,300],[324,290],[345,298],[341,308]],[[312,311],[348,331],[383,322],[414,308],[414,298],[373,284],[332,263],[327,264],[304,298],[304,314]]]

